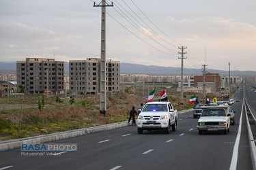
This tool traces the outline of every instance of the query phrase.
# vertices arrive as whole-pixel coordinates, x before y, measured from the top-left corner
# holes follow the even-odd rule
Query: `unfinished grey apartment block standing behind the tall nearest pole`
[[[96,95],[100,92],[100,58],[70,61],[70,92],[80,95]],[[106,92],[119,92],[120,62],[106,61]]]

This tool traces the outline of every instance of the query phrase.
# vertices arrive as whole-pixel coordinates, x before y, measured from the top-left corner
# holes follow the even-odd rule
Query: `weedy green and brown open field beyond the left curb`
[[[133,86],[132,86],[133,85]],[[100,114],[100,97],[79,95],[78,98],[65,95],[30,94],[15,97],[0,97],[0,141],[40,135],[45,129],[48,134],[73,129],[87,128],[114,122],[128,121],[132,106],[138,108],[147,102],[147,95],[153,84],[148,86],[126,84],[119,95],[106,98],[106,117]],[[193,95],[202,99],[201,93],[184,92],[184,103],[180,103],[180,92],[176,86],[154,84],[156,92],[154,101],[160,100],[160,93],[165,88],[169,101],[177,111],[190,109]],[[236,90],[234,90],[235,92]],[[214,97],[221,100],[221,95],[207,94],[211,101]]]

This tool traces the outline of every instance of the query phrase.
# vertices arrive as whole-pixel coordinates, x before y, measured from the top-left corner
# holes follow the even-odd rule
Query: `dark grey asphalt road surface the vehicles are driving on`
[[[236,111],[236,124],[231,126],[227,135],[199,135],[198,119],[194,119],[192,113],[180,114],[177,131],[171,131],[170,134],[143,131],[139,135],[136,126],[127,126],[52,142],[77,143],[77,152],[63,152],[56,156],[0,152],[0,170],[253,169],[242,110],[243,89],[238,90],[233,99],[240,99],[240,102],[232,105]]]

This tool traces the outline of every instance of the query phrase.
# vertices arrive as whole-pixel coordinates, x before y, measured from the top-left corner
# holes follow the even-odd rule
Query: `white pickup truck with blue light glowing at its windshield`
[[[144,105],[137,120],[138,133],[143,130],[162,130],[169,134],[176,130],[177,109],[170,102],[149,102]]]

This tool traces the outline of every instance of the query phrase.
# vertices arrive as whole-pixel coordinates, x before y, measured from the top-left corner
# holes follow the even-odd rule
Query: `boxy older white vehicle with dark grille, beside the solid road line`
[[[202,106],[202,114],[198,120],[197,129],[199,135],[203,132],[223,131],[229,132],[230,114],[228,105]]]

